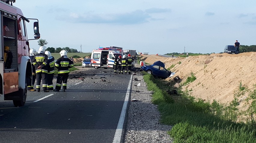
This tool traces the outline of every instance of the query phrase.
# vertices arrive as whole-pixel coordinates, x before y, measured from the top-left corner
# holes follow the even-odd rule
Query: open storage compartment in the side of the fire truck
[[[1,61],[4,60],[4,47],[8,46],[9,50],[12,53],[12,64],[11,68],[5,68],[5,73],[15,72],[17,70],[18,61],[17,61],[17,16],[1,12],[1,21],[0,26],[2,27],[2,34],[0,34],[0,47],[1,51]],[[5,30],[5,27],[8,27],[9,30]],[[3,36],[3,37],[2,37]],[[3,41],[2,41],[3,40]]]

